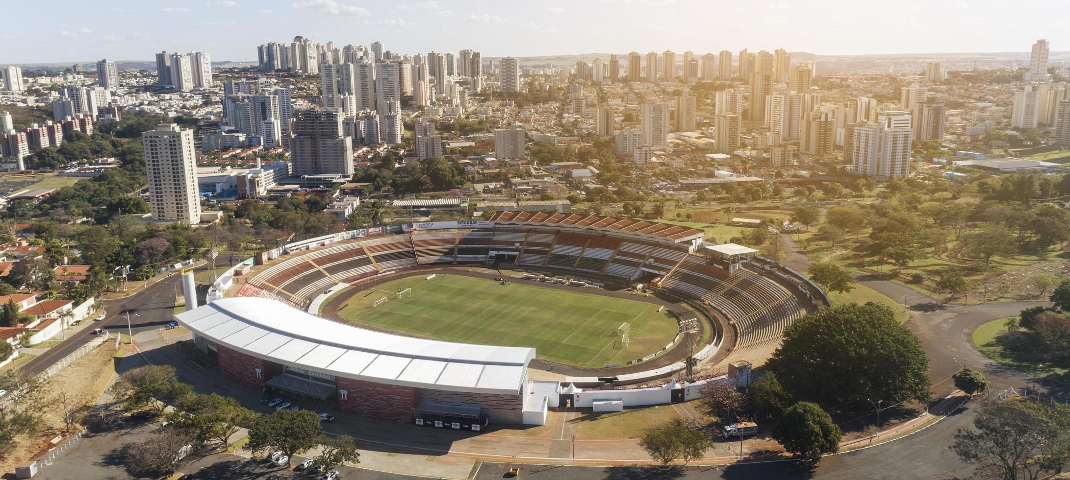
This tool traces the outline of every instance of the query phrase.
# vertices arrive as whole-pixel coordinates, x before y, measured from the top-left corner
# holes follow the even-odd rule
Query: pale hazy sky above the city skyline
[[[1070,50],[1067,0],[4,0],[0,64],[256,60],[304,35],[484,57],[785,48],[819,55]],[[21,19],[21,20],[19,20]],[[14,20],[14,21],[11,21]]]

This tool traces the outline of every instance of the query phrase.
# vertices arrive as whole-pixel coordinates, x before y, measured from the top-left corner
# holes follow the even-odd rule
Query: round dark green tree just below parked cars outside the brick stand
[[[320,440],[320,417],[310,411],[281,409],[264,415],[249,428],[249,443],[245,450],[259,452],[277,450],[293,455],[316,447]]]

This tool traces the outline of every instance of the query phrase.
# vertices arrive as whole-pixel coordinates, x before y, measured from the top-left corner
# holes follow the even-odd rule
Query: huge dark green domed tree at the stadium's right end
[[[884,305],[835,305],[792,323],[783,337],[766,368],[807,400],[929,399],[929,358],[921,342]]]

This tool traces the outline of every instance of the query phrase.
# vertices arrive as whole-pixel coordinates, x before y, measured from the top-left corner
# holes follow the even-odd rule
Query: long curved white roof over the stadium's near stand
[[[276,363],[388,385],[517,393],[535,349],[441,342],[368,330],[281,301],[221,298],[174,315],[198,337]]]

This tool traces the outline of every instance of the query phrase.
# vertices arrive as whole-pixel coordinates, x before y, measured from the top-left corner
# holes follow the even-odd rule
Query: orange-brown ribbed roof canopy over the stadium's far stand
[[[655,242],[683,243],[702,237],[702,230],[657,221],[632,218],[602,217],[598,215],[563,214],[545,212],[495,212],[490,221],[495,224],[537,224],[569,227],[602,233],[624,234]]]

